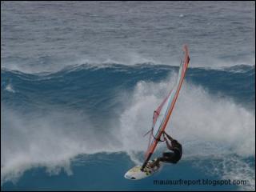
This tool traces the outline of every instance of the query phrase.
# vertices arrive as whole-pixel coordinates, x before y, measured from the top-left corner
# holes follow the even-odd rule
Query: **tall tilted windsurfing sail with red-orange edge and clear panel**
[[[146,150],[145,162],[143,163],[141,170],[144,170],[147,162],[150,160],[151,155],[154,153],[154,150],[162,136],[162,132],[166,129],[170,114],[174,110],[174,105],[178,98],[178,93],[181,90],[187,66],[190,62],[189,50],[186,45],[183,46],[183,51],[185,53],[185,56],[179,67],[177,82],[174,84],[173,90],[170,90],[170,93],[163,100],[160,106],[158,106],[158,109],[154,110],[152,129],[150,130],[150,132],[148,132],[150,133],[149,146]]]

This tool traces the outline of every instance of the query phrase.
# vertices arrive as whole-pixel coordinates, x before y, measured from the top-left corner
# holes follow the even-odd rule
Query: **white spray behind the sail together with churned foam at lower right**
[[[166,92],[169,82],[174,82],[174,78],[161,83],[138,82],[132,102],[121,116],[126,150],[146,150],[147,140],[142,134],[150,129],[152,111],[166,95],[158,94]],[[255,189],[254,168],[241,160],[255,157],[255,114],[252,111],[185,82],[166,131],[182,143],[183,159],[202,158],[207,162],[217,159],[212,172],[224,179],[247,180],[250,184],[240,187]],[[159,150],[166,150],[166,146],[159,144]],[[198,167],[209,170],[204,167],[205,162],[197,163]]]

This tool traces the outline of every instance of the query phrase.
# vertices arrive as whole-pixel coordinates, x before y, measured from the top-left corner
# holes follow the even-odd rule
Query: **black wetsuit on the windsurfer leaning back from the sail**
[[[177,163],[182,158],[182,145],[175,143],[171,152],[162,153],[161,162]]]

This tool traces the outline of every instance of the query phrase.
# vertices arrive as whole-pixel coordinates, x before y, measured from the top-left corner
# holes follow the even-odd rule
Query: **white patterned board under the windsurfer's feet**
[[[150,168],[150,167],[146,166],[144,168],[144,170],[142,171],[141,170],[142,166],[134,166],[133,168],[131,168],[130,170],[128,170],[126,172],[125,178],[132,179],[132,180],[138,180],[138,179],[142,179],[142,178],[147,178],[147,177],[151,176],[152,174],[154,174],[154,173],[158,172],[159,170],[161,170],[161,167],[162,167],[162,163],[160,163],[159,167],[155,166],[154,168]]]

